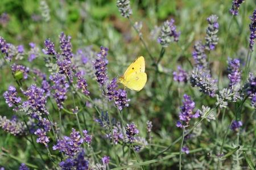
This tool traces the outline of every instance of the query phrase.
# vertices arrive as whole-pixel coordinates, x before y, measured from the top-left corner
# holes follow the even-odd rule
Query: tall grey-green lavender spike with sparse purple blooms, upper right
[[[215,46],[218,44],[218,16],[217,15],[210,15],[207,18],[208,21],[208,28],[207,28],[207,36],[205,37],[206,44],[205,49],[207,50],[214,50]]]

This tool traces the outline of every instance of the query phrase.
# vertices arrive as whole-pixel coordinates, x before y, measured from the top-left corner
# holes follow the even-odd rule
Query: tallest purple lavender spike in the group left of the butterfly
[[[61,32],[59,37],[61,55],[65,56],[65,59],[71,60],[73,57],[71,36],[66,36],[64,32]]]

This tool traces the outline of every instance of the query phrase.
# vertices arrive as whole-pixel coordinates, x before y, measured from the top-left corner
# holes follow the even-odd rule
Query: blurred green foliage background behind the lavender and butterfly
[[[181,131],[175,126],[181,104],[181,96],[179,99],[177,98],[178,91],[181,91],[182,94],[187,92],[193,96],[195,101],[199,101],[197,108],[200,108],[202,104],[214,105],[213,99],[207,97],[202,101],[202,96],[198,91],[191,90],[191,87],[184,88],[180,84],[172,82],[172,71],[176,70],[177,65],[183,65],[185,70],[191,70],[187,60],[192,62],[193,44],[196,40],[204,39],[208,25],[207,18],[212,14],[216,14],[219,17],[218,22],[220,24],[220,31],[218,32],[218,37],[220,37],[219,44],[217,49],[208,56],[214,77],[217,78],[218,70],[225,72],[228,56],[245,59],[246,49],[249,45],[249,16],[256,6],[256,1],[254,0],[247,0],[241,6],[240,15],[233,18],[227,39],[230,20],[232,20],[232,15],[229,14],[229,9],[232,7],[231,0],[131,1],[133,9],[131,20],[134,23],[142,22],[142,36],[155,58],[159,56],[161,49],[161,46],[156,41],[158,34],[154,32],[155,28],[162,25],[165,20],[174,18],[177,30],[181,31],[180,41],[177,44],[172,43],[166,49],[166,54],[161,63],[164,70],[163,74],[159,74],[158,78],[155,79],[154,71],[152,71],[153,67],[146,50],[139,41],[137,33],[131,28],[129,20],[119,14],[114,0],[60,0],[46,1],[46,3],[50,14],[48,21],[43,15],[47,8],[40,5],[38,0],[1,0],[0,14],[6,12],[9,19],[7,19],[6,23],[0,25],[0,36],[11,44],[23,44],[26,49],[29,49],[29,42],[35,42],[43,48],[46,38],[50,38],[55,42],[56,48],[58,48],[60,32],[65,32],[65,34],[72,36],[74,53],[84,46],[92,45],[96,51],[101,45],[107,46],[110,49],[108,57],[110,78],[122,75],[131,61],[137,56],[144,56],[146,58],[146,72],[149,78],[148,83],[145,90],[139,94],[133,91],[128,92],[131,99],[130,108],[129,111],[124,111],[124,114],[127,120],[135,121],[139,129],[145,128],[147,120],[152,120],[156,136],[154,143],[162,143],[165,146],[181,134]],[[225,44],[226,50],[225,53],[222,53]],[[252,58],[251,65],[254,66],[255,53],[253,53]],[[37,59],[34,63],[28,63],[27,61],[23,63],[29,67],[40,68],[44,66],[42,58]],[[11,83],[14,84],[14,80],[8,69],[2,70],[0,78],[0,112],[1,115],[6,115],[10,118],[12,116],[11,109],[5,104],[2,94]],[[3,79],[5,80],[4,82]],[[154,84],[154,81],[158,81],[158,83]],[[219,81],[220,87],[228,84],[228,80],[225,78]],[[90,87],[89,84],[89,88],[91,91],[97,91],[98,87]],[[93,94],[97,96],[101,92],[93,92]],[[137,113],[138,111],[139,114]],[[67,116],[66,118],[68,121],[69,117]],[[72,123],[69,122],[67,124]],[[94,125],[93,122],[91,124]],[[222,129],[227,124],[218,125],[213,122],[211,126],[216,130],[217,126]],[[97,134],[97,130],[94,133],[94,135],[100,136],[100,134]],[[146,132],[144,131],[144,133]],[[172,134],[171,139],[170,133]],[[209,135],[212,131],[209,130],[207,133]],[[223,131],[217,130],[216,137],[218,136],[217,134],[222,133]],[[17,137],[13,137],[2,130],[0,135],[0,147],[9,149],[11,154],[19,159],[15,162],[13,159],[0,154],[0,165],[6,166],[8,164],[7,167],[13,169],[18,167],[19,161],[36,163],[38,157],[35,158],[34,155],[36,153],[31,145],[25,145],[26,140],[20,139],[17,141]],[[97,140],[98,143],[96,142],[94,147],[100,148],[101,141]],[[203,141],[201,145],[207,146],[208,141]],[[41,151],[44,151],[43,148],[44,146],[40,146]],[[105,152],[108,153],[108,151]],[[147,156],[143,157],[147,158]],[[172,164],[174,162],[165,162],[160,167],[165,165],[168,167]]]

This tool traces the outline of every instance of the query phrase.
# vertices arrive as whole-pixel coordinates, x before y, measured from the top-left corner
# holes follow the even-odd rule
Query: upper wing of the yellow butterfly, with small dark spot
[[[125,73],[123,74],[124,79],[132,73],[144,73],[145,72],[145,59],[143,56],[138,57],[135,59],[133,63],[126,69]]]

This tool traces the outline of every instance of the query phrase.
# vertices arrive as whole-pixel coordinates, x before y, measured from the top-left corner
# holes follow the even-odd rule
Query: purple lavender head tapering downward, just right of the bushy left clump
[[[54,90],[53,97],[56,100],[58,108],[61,109],[63,108],[65,99],[67,99],[69,84],[66,82],[65,75],[63,74],[55,73],[49,76],[49,79],[54,83],[52,86]]]

